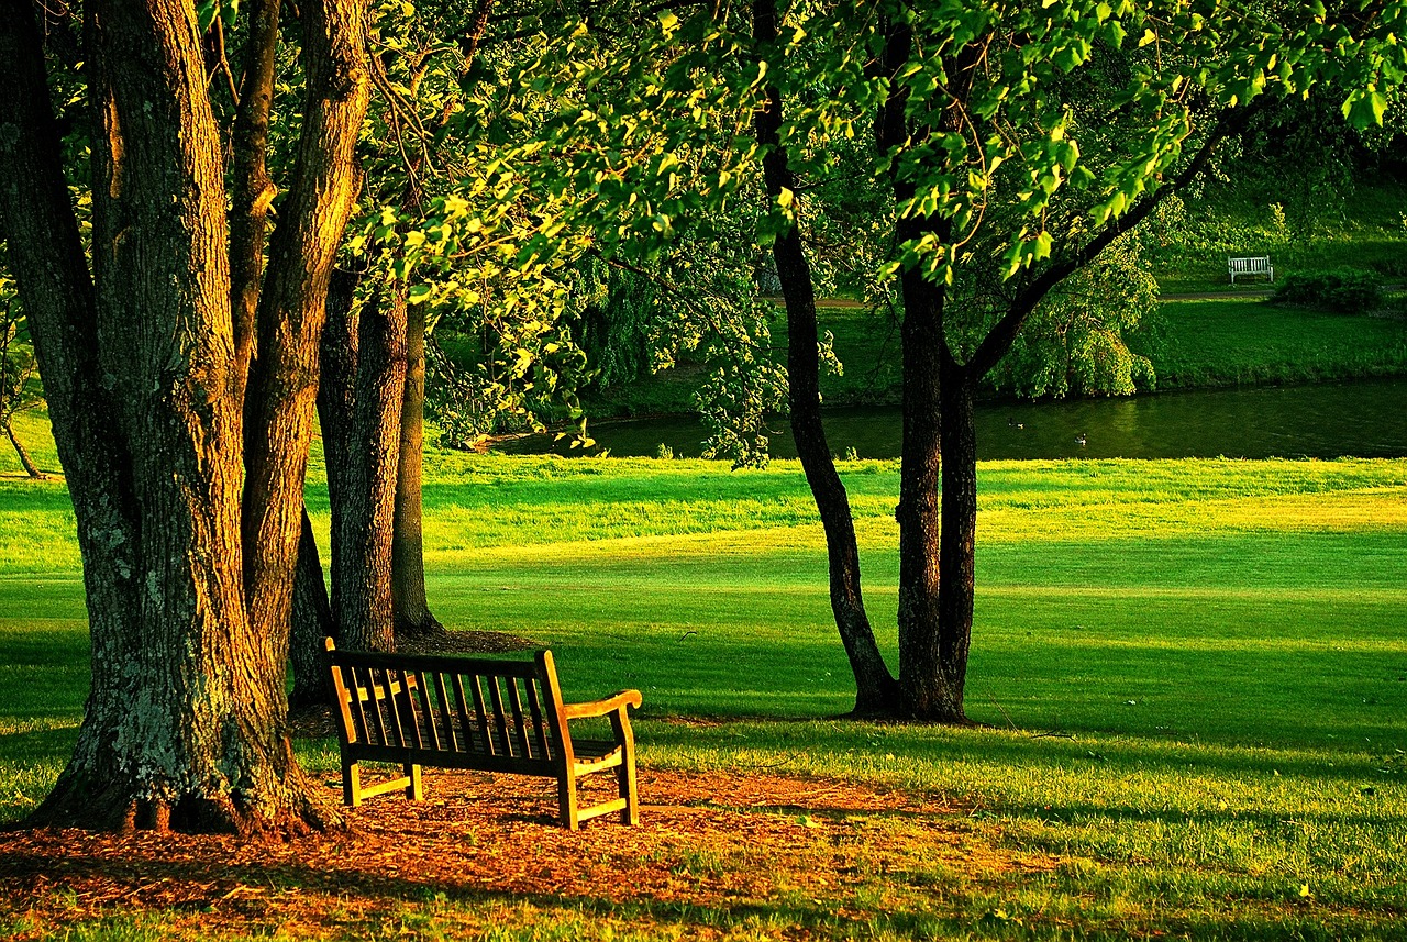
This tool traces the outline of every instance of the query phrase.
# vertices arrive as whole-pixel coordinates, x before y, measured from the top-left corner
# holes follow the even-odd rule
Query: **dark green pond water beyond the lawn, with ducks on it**
[[[978,405],[978,456],[995,458],[1266,458],[1407,457],[1407,378],[1301,387],[1164,392],[1119,399],[985,402]],[[772,425],[771,453],[795,457],[785,419]],[[702,451],[689,418],[598,422],[591,434],[613,456]],[[899,456],[899,409],[826,411],[836,454]],[[566,451],[549,436],[501,444],[504,451]]]

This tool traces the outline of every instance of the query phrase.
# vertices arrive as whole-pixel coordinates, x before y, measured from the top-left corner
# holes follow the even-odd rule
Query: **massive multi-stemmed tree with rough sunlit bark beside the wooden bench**
[[[243,399],[232,181],[196,11],[93,0],[83,14],[91,269],[37,10],[0,4],[0,219],[75,503],[93,638],[77,744],[32,820],[324,824],[288,747],[284,678],[318,342],[367,101],[363,4],[300,4],[303,125]]]

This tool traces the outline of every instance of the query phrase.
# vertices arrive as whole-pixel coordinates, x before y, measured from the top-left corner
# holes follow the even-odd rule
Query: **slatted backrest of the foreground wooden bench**
[[[374,654],[331,638],[326,651],[348,745],[539,775],[570,756],[550,651],[532,661]]]

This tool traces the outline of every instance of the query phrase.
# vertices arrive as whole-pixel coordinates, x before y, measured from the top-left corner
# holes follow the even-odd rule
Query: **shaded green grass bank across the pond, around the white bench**
[[[1300,191],[1278,179],[1210,186],[1140,229],[1144,252],[1165,295],[1211,299],[1164,302],[1158,336],[1130,339],[1148,356],[1159,389],[1318,382],[1407,374],[1407,316],[1401,298],[1389,316],[1276,307],[1233,291],[1228,254],[1269,254],[1283,278],[1311,269],[1370,269],[1389,283],[1407,280],[1407,184],[1365,180],[1349,190]],[[1238,285],[1244,288],[1247,285]],[[1263,281],[1251,288],[1266,287]],[[899,402],[899,330],[889,314],[855,307],[820,312],[844,370],[822,377],[827,405]],[[775,356],[785,359],[787,323],[771,325]],[[682,367],[611,391],[597,418],[687,413],[701,370]]]

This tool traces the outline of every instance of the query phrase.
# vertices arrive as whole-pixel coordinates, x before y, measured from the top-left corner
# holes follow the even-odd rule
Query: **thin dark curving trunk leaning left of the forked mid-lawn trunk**
[[[760,42],[777,39],[775,0],[754,0],[753,34]],[[756,115],[757,142],[770,148],[763,157],[767,193],[795,193],[796,181],[779,143],[782,124],[781,91],[767,89],[767,105]],[[830,562],[830,609],[836,617],[850,671],[855,678],[854,713],[889,714],[898,707],[899,688],[875,644],[874,628],[865,613],[860,588],[860,548],[846,485],[836,472],[836,463],[820,418],[820,344],[816,328],[816,292],[810,263],[801,242],[801,231],[791,226],[772,242],[772,260],[787,302],[787,377],[791,405],[792,437],[806,484],[816,501],[826,533]]]

